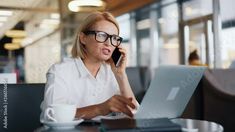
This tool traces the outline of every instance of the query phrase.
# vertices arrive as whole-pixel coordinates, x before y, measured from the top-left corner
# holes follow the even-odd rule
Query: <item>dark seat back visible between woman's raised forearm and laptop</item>
[[[126,73],[133,93],[140,103],[150,83],[150,72],[147,67],[127,67]]]

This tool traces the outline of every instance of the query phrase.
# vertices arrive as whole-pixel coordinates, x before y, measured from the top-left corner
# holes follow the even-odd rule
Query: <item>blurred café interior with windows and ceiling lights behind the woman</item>
[[[1,0],[0,73],[45,83],[48,68],[71,56],[80,23],[92,11],[117,18],[128,67],[234,68],[234,0]]]

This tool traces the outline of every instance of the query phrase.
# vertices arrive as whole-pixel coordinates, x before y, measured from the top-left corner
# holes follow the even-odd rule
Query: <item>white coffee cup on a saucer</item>
[[[73,121],[76,114],[76,106],[70,104],[53,104],[45,110],[45,119],[54,122]]]

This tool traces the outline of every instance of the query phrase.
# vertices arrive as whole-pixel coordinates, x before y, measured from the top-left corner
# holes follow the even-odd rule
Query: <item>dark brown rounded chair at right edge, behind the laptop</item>
[[[221,124],[225,132],[235,132],[234,77],[234,69],[214,69],[203,80],[204,120]]]

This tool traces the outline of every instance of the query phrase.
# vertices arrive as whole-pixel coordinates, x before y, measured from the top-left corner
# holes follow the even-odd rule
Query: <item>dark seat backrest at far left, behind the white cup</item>
[[[3,124],[4,118],[7,118],[5,123],[7,123],[8,131],[31,132],[41,126],[39,117],[44,85],[0,84],[0,104],[3,105],[0,120]],[[1,129],[4,128],[1,127],[0,131]]]

